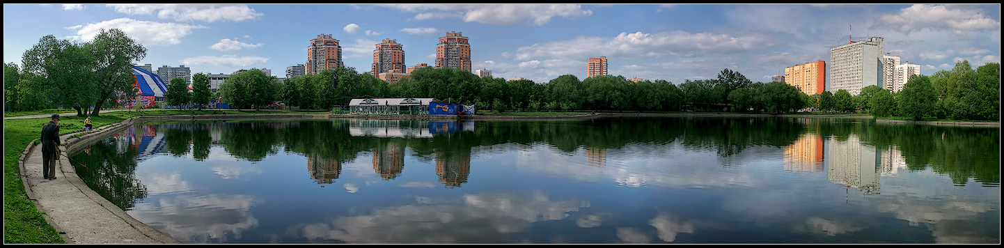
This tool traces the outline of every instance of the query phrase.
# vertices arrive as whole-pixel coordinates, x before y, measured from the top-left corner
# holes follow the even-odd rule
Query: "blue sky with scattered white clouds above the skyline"
[[[714,78],[722,69],[769,81],[784,67],[829,62],[829,48],[885,38],[885,50],[922,74],[1000,62],[999,4],[4,4],[4,63],[45,35],[90,41],[124,31],[147,49],[139,63],[185,65],[192,73],[268,68],[285,77],[303,64],[310,39],[331,34],[346,66],[366,72],[374,45],[403,44],[406,65],[435,64],[447,32],[470,38],[474,68],[538,83],[585,78],[586,60],[606,56],[626,78]]]

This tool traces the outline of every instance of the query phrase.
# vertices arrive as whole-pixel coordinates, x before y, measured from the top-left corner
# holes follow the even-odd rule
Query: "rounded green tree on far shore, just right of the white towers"
[[[917,120],[933,113],[938,91],[931,85],[928,76],[912,76],[900,91],[900,112]]]

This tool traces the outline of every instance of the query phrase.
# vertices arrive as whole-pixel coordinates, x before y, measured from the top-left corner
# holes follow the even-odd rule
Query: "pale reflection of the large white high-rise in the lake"
[[[863,190],[868,194],[878,194],[882,152],[874,147],[861,145],[856,135],[849,135],[845,141],[829,139],[826,155],[828,179],[850,188]]]

